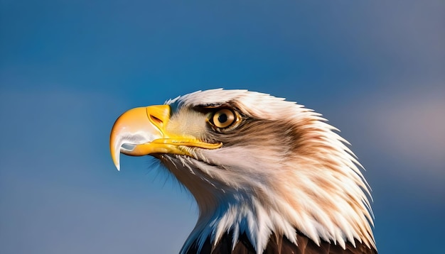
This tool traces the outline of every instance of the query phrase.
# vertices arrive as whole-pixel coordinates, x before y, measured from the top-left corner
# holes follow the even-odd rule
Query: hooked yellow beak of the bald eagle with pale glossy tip
[[[191,136],[175,135],[166,131],[171,108],[168,105],[130,109],[117,118],[109,138],[109,149],[117,170],[119,153],[131,156],[171,153],[192,156],[189,147],[220,148]]]

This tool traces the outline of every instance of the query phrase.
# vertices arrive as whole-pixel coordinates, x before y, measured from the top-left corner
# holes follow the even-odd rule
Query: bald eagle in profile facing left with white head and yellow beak
[[[282,98],[212,89],[130,109],[119,153],[157,158],[195,198],[181,253],[377,253],[370,191],[348,142]]]

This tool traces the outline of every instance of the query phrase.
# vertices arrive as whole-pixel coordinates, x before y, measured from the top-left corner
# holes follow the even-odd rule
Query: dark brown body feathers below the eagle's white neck
[[[346,243],[346,249],[340,245],[321,241],[320,246],[316,245],[310,238],[301,233],[297,234],[298,246],[291,243],[285,236],[277,238],[271,236],[267,248],[263,254],[377,254],[377,250],[368,248],[363,243],[355,241],[354,247],[351,243]],[[203,248],[198,252],[198,245],[193,243],[187,254],[256,254],[252,243],[245,234],[242,234],[239,241],[232,250],[232,234],[226,233],[218,244],[213,248],[210,238],[207,238]]]

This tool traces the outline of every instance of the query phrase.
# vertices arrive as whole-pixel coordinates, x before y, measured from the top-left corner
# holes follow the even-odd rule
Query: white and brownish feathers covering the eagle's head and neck
[[[233,105],[257,123],[237,133],[244,138],[232,145],[195,149],[194,158],[161,157],[200,209],[183,253],[195,241],[202,246],[210,236],[217,243],[229,231],[233,247],[246,233],[257,253],[272,233],[296,243],[296,230],[315,243],[331,241],[345,248],[357,239],[375,248],[361,165],[320,114],[246,90],[198,91],[166,104],[173,108],[169,124],[176,126],[183,117],[175,116],[189,114],[194,106],[218,104]]]

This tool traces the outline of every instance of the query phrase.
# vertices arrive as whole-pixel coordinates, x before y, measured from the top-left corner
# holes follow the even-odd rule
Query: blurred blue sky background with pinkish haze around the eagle
[[[190,194],[109,156],[114,120],[199,89],[329,119],[366,167],[380,253],[440,253],[444,1],[0,1],[0,253],[178,253]]]

